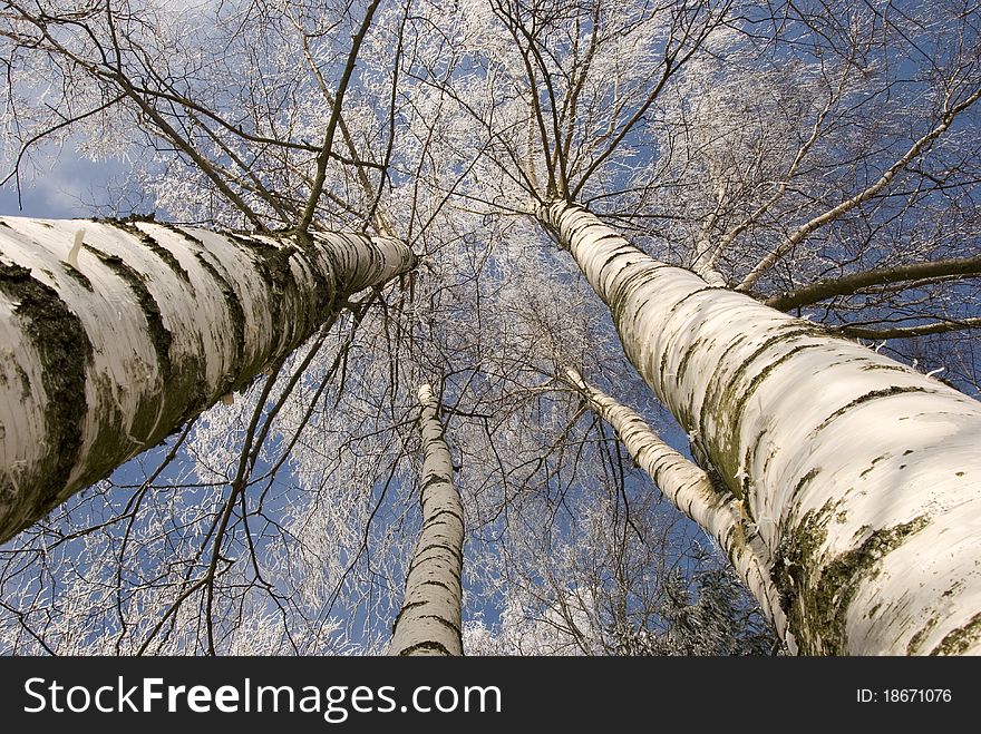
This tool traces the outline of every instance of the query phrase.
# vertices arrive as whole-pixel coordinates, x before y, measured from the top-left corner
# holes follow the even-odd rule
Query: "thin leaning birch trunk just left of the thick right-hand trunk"
[[[637,412],[587,383],[575,370],[567,369],[565,376],[589,401],[590,408],[613,427],[631,458],[648,472],[664,497],[719,541],[777,634],[796,652],[793,635],[787,634],[779,593],[770,578],[769,551],[754,522],[744,513],[741,503],[664,443]]]

